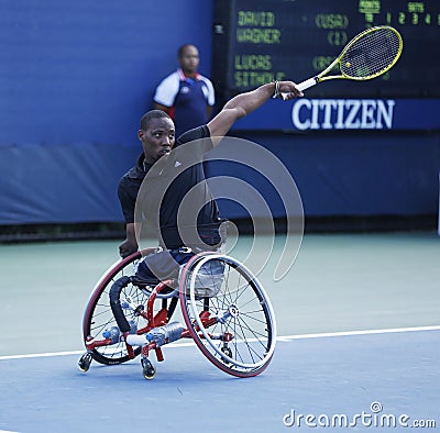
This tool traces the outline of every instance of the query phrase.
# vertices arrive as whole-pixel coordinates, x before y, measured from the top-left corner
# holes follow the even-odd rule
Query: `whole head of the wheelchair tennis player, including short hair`
[[[175,142],[174,122],[162,110],[148,111],[141,119],[138,137],[142,143],[145,160],[153,164],[172,151]]]

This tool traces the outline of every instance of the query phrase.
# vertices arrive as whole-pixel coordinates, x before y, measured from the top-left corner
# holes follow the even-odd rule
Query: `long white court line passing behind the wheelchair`
[[[440,325],[435,326],[413,326],[413,327],[389,327],[384,330],[365,330],[365,331],[340,331],[340,332],[321,332],[317,334],[298,334],[298,335],[283,335],[276,340],[278,342],[289,342],[292,340],[304,340],[304,338],[324,338],[324,337],[337,337],[337,336],[350,336],[350,335],[372,335],[372,334],[391,334],[402,332],[417,332],[417,331],[440,331]],[[188,347],[195,345],[191,343],[170,343],[168,347]],[[66,356],[66,355],[81,355],[85,351],[70,351],[70,352],[48,352],[41,354],[26,354],[26,355],[7,355],[0,356],[0,360],[6,359],[24,359],[24,358],[43,358],[52,356]],[[1,433],[1,430],[0,430]]]

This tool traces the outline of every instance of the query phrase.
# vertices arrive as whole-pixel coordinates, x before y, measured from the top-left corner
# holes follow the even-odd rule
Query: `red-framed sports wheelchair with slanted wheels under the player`
[[[276,323],[257,278],[239,260],[205,252],[182,266],[177,278],[136,281],[138,264],[153,251],[120,259],[97,282],[84,314],[86,353],[79,369],[87,371],[92,360],[118,365],[140,356],[143,377],[153,379],[156,367],[150,354],[163,362],[162,346],[185,338],[229,375],[245,378],[263,373],[273,358]],[[128,332],[119,330],[111,309],[114,285]],[[174,320],[178,306],[184,324]]]

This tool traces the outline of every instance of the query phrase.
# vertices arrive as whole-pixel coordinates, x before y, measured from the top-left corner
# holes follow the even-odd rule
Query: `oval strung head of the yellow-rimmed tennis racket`
[[[389,29],[365,33],[344,52],[340,68],[348,78],[366,79],[388,70],[402,52],[399,35]]]

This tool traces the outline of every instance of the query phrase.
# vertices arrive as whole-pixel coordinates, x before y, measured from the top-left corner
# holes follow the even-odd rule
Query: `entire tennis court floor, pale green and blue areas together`
[[[278,324],[262,375],[234,378],[175,343],[163,363],[153,354],[153,380],[139,358],[77,367],[81,311],[114,243],[0,246],[0,431],[438,431],[439,246],[306,236],[282,286],[262,276]]]

